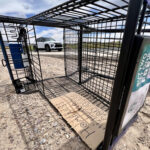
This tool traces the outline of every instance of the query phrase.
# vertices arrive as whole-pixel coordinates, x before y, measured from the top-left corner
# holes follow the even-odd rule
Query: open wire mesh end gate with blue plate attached
[[[32,92],[38,87],[43,93],[44,86],[34,26],[2,22],[0,29],[16,92]],[[4,61],[6,60],[3,60],[3,64]]]

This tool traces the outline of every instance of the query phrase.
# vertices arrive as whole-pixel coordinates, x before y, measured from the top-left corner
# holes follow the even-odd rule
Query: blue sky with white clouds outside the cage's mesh
[[[68,0],[0,0],[0,15],[28,18]],[[60,28],[36,27],[37,37],[52,37],[63,41]]]

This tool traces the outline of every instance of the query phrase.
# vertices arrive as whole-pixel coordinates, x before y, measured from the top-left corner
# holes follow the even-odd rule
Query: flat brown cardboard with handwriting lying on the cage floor
[[[103,141],[107,112],[74,92],[54,98],[51,103],[91,149]]]

